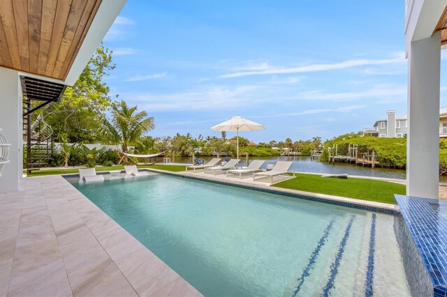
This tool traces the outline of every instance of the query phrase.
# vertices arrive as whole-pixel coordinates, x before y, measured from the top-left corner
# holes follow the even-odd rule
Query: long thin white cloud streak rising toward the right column
[[[353,68],[358,66],[374,66],[389,63],[402,63],[404,62],[404,55],[400,54],[392,59],[352,59],[337,63],[324,63],[324,64],[310,64],[306,66],[298,67],[286,67],[286,68],[274,68],[268,64],[263,65],[265,69],[259,70],[242,70],[233,73],[221,75],[221,78],[230,77],[244,77],[249,75],[274,75],[274,74],[288,74],[288,73],[314,73],[328,70],[339,70],[345,68]]]

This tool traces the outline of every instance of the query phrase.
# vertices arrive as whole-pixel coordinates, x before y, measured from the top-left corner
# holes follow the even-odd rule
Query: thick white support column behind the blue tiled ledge
[[[439,197],[439,84],[441,33],[408,50],[406,195]]]

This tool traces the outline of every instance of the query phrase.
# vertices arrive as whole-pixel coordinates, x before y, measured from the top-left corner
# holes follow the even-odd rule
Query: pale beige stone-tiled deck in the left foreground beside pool
[[[0,296],[201,296],[61,176],[0,193]]]

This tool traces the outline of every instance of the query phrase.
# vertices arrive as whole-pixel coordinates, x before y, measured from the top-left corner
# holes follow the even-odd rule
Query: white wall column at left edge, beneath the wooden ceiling
[[[17,71],[0,68],[0,128],[11,144],[1,170],[0,192],[19,190],[22,178],[22,89]]]

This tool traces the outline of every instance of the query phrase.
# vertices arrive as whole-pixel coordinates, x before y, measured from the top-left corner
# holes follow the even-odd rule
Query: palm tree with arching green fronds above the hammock
[[[155,128],[154,118],[147,112],[136,113],[138,107],[128,107],[125,101],[112,105],[112,121],[102,120],[102,132],[112,144],[121,144],[123,153],[146,132]]]

